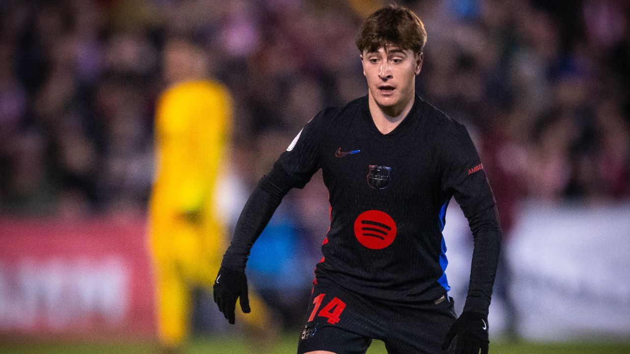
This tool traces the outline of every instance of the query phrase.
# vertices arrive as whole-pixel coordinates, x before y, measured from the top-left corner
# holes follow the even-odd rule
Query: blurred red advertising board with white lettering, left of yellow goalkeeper
[[[146,219],[0,219],[0,334],[155,333]]]

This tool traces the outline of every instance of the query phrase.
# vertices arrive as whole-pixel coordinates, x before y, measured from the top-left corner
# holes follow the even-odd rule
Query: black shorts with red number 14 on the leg
[[[389,354],[449,353],[440,346],[456,318],[453,305],[446,292],[430,302],[400,304],[368,299],[318,278],[297,353],[363,354],[372,339],[384,341]]]

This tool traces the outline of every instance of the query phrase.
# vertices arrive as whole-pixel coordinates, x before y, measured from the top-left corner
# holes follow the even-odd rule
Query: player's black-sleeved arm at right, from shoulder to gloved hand
[[[495,283],[501,248],[501,231],[483,164],[473,141],[462,125],[451,126],[449,145],[445,147],[445,195],[454,195],[468,219],[474,237],[471,278],[464,311],[446,334],[442,349],[447,350],[455,336],[455,352],[488,353],[488,309]]]

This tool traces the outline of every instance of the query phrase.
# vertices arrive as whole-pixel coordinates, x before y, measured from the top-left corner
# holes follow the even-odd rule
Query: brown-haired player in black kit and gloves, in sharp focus
[[[388,6],[357,40],[369,91],[321,111],[297,134],[245,205],[215,281],[231,323],[249,249],[290,188],[323,170],[331,226],[298,353],[488,352],[488,307],[501,232],[481,161],[461,124],[415,94],[426,32],[408,9]],[[464,312],[456,318],[445,275],[445,212],[451,197],[474,234]],[[452,343],[453,339],[455,341]]]

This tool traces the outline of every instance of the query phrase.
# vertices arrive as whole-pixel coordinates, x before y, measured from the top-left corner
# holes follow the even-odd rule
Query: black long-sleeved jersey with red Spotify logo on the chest
[[[454,196],[475,239],[464,309],[487,314],[501,242],[495,201],[466,128],[419,96],[389,134],[367,96],[318,113],[252,193],[223,266],[244,270],[282,197],[319,168],[331,224],[316,277],[374,299],[438,299],[450,289],[442,230]]]

